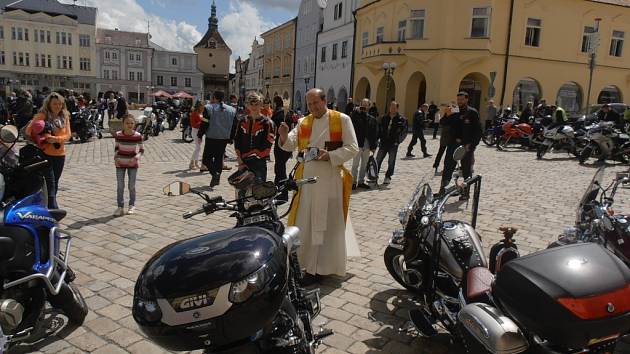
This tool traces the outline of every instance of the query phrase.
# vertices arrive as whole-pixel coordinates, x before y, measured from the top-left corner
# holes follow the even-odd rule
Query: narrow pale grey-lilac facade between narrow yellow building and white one
[[[293,108],[302,112],[306,112],[306,91],[315,87],[317,33],[323,21],[323,9],[317,0],[302,0],[297,17],[293,78]]]

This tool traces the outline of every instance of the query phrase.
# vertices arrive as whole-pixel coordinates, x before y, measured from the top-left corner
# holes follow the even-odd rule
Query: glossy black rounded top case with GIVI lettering
[[[282,239],[263,228],[179,241],[142,269],[133,318],[151,341],[168,350],[238,348],[274,319],[287,276]]]

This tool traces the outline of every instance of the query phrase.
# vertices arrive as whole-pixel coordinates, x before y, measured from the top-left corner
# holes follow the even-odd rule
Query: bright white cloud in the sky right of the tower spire
[[[236,58],[240,56],[245,60],[249,57],[254,37],[261,42],[260,34],[274,26],[274,23],[265,21],[250,2],[231,1],[228,13],[219,19],[219,32],[232,49],[231,71],[234,71]]]

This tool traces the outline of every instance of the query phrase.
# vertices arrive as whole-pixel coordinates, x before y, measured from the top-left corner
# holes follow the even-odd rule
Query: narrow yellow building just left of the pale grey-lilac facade
[[[292,19],[263,33],[265,64],[263,92],[266,96],[281,96],[285,105],[293,98],[293,58],[295,56],[295,24]]]

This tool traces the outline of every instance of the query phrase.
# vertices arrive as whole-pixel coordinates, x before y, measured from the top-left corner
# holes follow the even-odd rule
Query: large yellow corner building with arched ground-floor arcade
[[[482,108],[482,118],[489,99],[520,109],[544,98],[579,111],[587,102],[588,52],[595,36],[599,47],[588,101],[630,97],[630,53],[623,45],[630,32],[628,0],[364,0],[360,5],[353,97],[376,100],[381,112],[395,98],[411,117],[419,104],[453,101],[460,90]],[[391,76],[384,64],[395,64]]]

